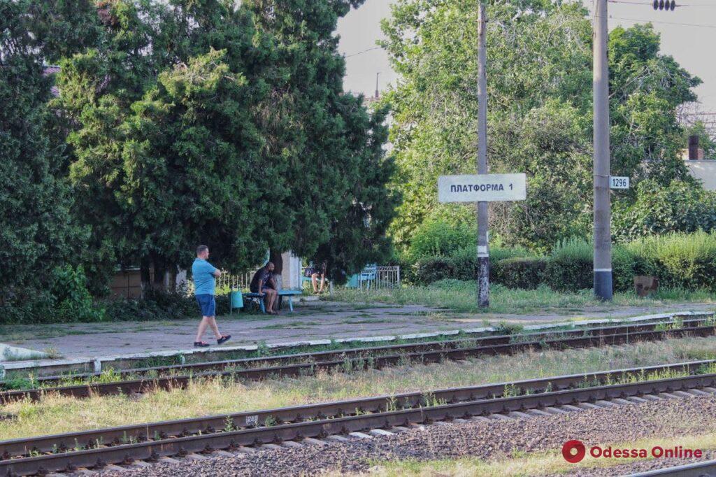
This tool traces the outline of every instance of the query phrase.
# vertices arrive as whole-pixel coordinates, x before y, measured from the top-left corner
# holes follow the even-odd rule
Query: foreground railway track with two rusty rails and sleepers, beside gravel
[[[0,476],[104,468],[350,433],[387,434],[433,421],[527,418],[708,393],[716,394],[716,360],[126,425],[0,441]]]

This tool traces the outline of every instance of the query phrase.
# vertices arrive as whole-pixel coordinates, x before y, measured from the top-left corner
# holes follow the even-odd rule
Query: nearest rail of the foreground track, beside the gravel
[[[713,386],[716,386],[716,373],[570,390],[551,390],[533,395],[468,400],[430,407],[382,410],[372,414],[360,413],[337,418],[301,420],[295,423],[281,423],[177,438],[161,438],[159,436],[157,440],[140,443],[100,446],[74,452],[4,460],[0,461],[0,475],[29,475],[75,468],[101,468],[110,463],[129,463],[137,459],[151,461],[161,456],[184,456],[187,453],[237,448],[244,445],[281,443],[284,440],[302,440],[309,437],[324,437],[374,428],[392,428],[396,425],[431,423],[435,420],[470,418],[476,415],[509,413]]]

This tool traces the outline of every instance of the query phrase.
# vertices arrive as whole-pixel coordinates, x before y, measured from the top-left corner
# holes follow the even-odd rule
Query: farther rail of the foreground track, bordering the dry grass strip
[[[123,425],[116,428],[84,430],[57,435],[41,435],[0,441],[0,458],[9,459],[27,456],[30,453],[47,453],[67,450],[77,446],[92,448],[98,443],[119,445],[123,442],[141,442],[156,436],[168,438],[198,433],[215,433],[224,428],[247,428],[264,425],[267,418],[278,423],[297,422],[304,419],[336,418],[349,413],[377,413],[389,408],[415,408],[427,404],[426,400],[458,403],[488,399],[503,395],[505,389],[518,394],[545,392],[546,390],[567,390],[584,385],[602,385],[625,377],[647,377],[655,372],[685,372],[694,374],[709,367],[716,367],[716,360],[680,362],[669,365],[634,367],[621,370],[589,372],[577,375],[544,377],[532,380],[498,382],[488,385],[453,387],[431,390],[430,392],[405,392],[397,395],[360,397],[329,403],[291,406],[267,410],[246,411],[228,415],[211,415],[155,423]]]

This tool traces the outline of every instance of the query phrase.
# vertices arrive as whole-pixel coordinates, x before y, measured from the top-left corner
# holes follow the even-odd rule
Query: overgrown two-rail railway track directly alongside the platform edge
[[[319,370],[361,370],[400,365],[408,362],[465,360],[483,355],[504,355],[531,349],[566,349],[606,344],[624,344],[667,337],[712,336],[716,327],[707,318],[678,322],[623,324],[613,327],[586,328],[533,334],[511,334],[478,339],[393,344],[349,350],[324,351],[274,357],[246,358],[187,365],[146,367],[116,372],[119,380],[97,382],[100,373],[40,377],[37,387],[0,392],[0,403],[29,398],[39,400],[48,392],[73,397],[90,395],[136,394],[155,389],[185,387],[197,377],[233,377],[236,380],[261,380],[269,377],[313,375]],[[138,376],[138,377],[137,377]],[[132,377],[132,379],[127,379]],[[62,385],[67,380],[89,380],[82,384]]]

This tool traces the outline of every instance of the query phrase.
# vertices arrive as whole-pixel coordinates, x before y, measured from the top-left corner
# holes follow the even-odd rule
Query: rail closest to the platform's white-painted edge
[[[698,327],[706,322],[708,317],[683,319],[680,321],[680,327]],[[262,365],[277,365],[280,362],[320,362],[332,360],[344,360],[352,357],[367,357],[369,355],[377,355],[379,353],[390,354],[400,353],[406,354],[411,352],[423,352],[432,350],[453,350],[459,347],[465,347],[465,344],[474,344],[479,346],[490,346],[496,344],[510,344],[514,342],[533,342],[539,341],[545,337],[586,337],[586,336],[606,336],[609,334],[624,334],[634,331],[644,331],[657,329],[659,326],[668,326],[675,324],[675,320],[647,322],[647,323],[628,323],[619,324],[611,327],[582,327],[579,329],[566,330],[548,330],[536,333],[521,334],[501,334],[486,337],[450,339],[443,341],[417,342],[390,344],[379,347],[362,347],[347,348],[343,350],[327,350],[319,352],[296,353],[293,355],[276,355],[264,357],[241,358],[237,360],[221,360],[209,362],[196,362],[181,365],[167,365],[155,367],[139,367],[126,370],[112,370],[119,377],[136,377],[137,375],[158,375],[162,372],[203,372],[208,370],[225,370],[233,367],[262,367]],[[55,384],[68,379],[73,380],[91,380],[95,377],[101,377],[102,372],[84,372],[69,375],[56,375],[39,377],[35,380],[40,384]]]

